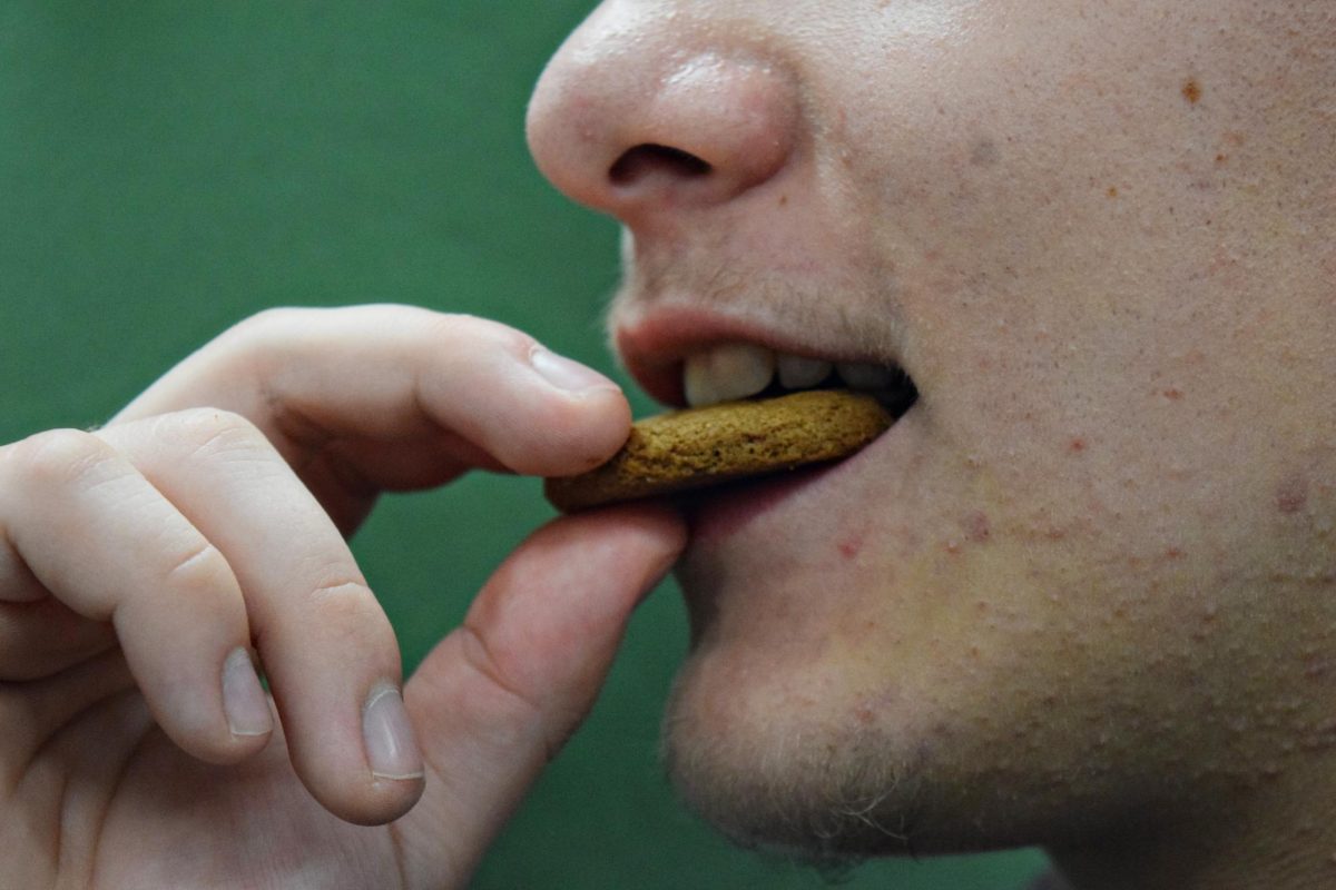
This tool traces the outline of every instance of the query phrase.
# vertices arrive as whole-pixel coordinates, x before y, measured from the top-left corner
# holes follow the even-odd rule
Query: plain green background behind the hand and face
[[[616,230],[533,169],[524,108],[592,0],[0,0],[0,442],[106,419],[271,306],[477,312],[617,375]],[[620,378],[619,378],[620,379]],[[637,410],[647,408],[637,399]],[[385,500],[354,540],[411,666],[550,516],[532,480]],[[477,887],[814,887],[673,799],[667,584]],[[1018,887],[1035,853],[878,862],[848,887]]]

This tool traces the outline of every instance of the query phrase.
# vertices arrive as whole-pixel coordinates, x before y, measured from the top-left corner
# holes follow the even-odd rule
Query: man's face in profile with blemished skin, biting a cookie
[[[628,226],[652,391],[759,343],[919,392],[695,516],[667,743],[705,815],[1061,845],[1336,743],[1325,8],[609,0],[553,60],[530,140]]]

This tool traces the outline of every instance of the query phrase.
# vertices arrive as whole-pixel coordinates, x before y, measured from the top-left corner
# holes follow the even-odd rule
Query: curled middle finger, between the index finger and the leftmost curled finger
[[[401,719],[394,632],[342,534],[282,456],[247,420],[207,408],[99,435],[231,564],[307,789],[354,822],[411,806],[422,770]]]

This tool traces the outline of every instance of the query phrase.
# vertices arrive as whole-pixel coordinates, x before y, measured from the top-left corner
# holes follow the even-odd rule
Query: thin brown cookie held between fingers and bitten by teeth
[[[847,458],[892,422],[875,399],[846,390],[675,411],[639,420],[608,463],[548,479],[544,494],[569,512],[703,488]]]

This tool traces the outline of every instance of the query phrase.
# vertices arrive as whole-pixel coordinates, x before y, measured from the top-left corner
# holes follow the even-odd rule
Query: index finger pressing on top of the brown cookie
[[[473,466],[568,475],[625,440],[616,383],[514,328],[406,306],[270,310],[172,368],[112,423],[236,412],[310,475],[345,487],[440,484]],[[394,459],[386,460],[386,450]]]

